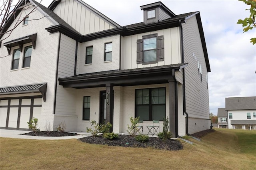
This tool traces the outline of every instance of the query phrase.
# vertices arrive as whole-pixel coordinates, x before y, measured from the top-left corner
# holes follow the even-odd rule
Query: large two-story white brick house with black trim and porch
[[[140,8],[144,22],[120,26],[82,0],[21,1],[3,29],[23,24],[0,39],[0,127],[26,130],[35,117],[40,130],[65,121],[67,131],[85,131],[96,120],[125,133],[140,117],[147,133],[169,117],[174,137],[209,129],[200,13]]]

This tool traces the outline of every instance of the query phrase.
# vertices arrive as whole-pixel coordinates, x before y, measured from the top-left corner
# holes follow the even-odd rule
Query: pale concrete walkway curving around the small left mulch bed
[[[20,138],[20,139],[56,140],[56,139],[78,139],[78,138],[83,138],[83,137],[86,137],[86,136],[90,136],[90,134],[86,133],[86,132],[70,132],[70,133],[77,133],[79,135],[76,135],[76,136],[60,136],[60,137],[22,135],[23,133],[28,133],[28,132],[29,131],[0,129],[0,137],[3,137],[3,138]]]

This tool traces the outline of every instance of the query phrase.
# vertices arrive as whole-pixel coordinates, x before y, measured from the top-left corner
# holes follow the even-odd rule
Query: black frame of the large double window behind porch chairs
[[[164,89],[165,90],[165,103],[162,104],[152,104],[152,89]],[[153,121],[152,119],[152,106],[153,105],[164,105],[165,106],[165,113],[164,113],[164,116],[166,117],[166,87],[153,87],[153,88],[142,88],[142,89],[135,89],[135,117],[137,117],[137,106],[138,105],[143,105],[143,104],[137,104],[137,96],[136,96],[136,91],[137,90],[145,90],[145,89],[148,89],[149,90],[149,103],[148,104],[144,104],[144,105],[148,105],[149,106],[149,120],[144,120],[144,121]],[[163,120],[159,120],[159,121],[163,121]]]

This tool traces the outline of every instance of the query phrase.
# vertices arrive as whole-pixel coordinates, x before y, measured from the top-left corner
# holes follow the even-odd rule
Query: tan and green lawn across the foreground
[[[0,138],[0,169],[256,169],[256,130],[216,129],[183,150],[124,148],[76,139]]]

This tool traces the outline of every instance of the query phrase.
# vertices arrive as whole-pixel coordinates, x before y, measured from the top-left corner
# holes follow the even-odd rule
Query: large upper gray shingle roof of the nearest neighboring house
[[[256,110],[256,97],[226,98],[226,110]]]

